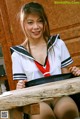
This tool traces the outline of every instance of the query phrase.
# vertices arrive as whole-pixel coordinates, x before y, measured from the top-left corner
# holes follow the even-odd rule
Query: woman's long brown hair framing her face
[[[50,29],[49,29],[48,19],[47,19],[43,6],[36,2],[30,2],[22,6],[21,12],[20,12],[20,22],[21,22],[23,31],[24,31],[24,25],[23,25],[24,19],[29,14],[37,14],[42,19],[42,22],[45,28],[43,36],[44,36],[44,39],[47,40],[50,37]]]

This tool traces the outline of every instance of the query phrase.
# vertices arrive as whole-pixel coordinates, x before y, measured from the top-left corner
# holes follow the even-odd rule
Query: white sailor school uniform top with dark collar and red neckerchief
[[[13,80],[26,79],[30,81],[49,75],[61,74],[61,68],[73,62],[64,41],[60,39],[59,35],[49,38],[44,65],[37,62],[21,45],[11,47],[11,52]]]

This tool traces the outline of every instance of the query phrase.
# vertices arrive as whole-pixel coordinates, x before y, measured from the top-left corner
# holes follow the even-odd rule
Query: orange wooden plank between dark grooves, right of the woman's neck
[[[66,26],[61,29],[51,30],[51,34],[60,34],[61,39],[70,40],[80,37],[80,23]]]

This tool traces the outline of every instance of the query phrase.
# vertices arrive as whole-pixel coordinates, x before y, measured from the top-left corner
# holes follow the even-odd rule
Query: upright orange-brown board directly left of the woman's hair
[[[24,34],[22,32],[19,20],[21,1],[5,0],[5,4],[9,15],[11,33],[13,35],[12,45],[21,44],[24,40]]]

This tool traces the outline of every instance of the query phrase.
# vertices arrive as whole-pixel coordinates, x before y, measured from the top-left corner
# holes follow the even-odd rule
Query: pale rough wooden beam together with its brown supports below
[[[22,119],[23,113],[38,114],[41,101],[79,92],[80,77],[8,91],[0,95],[0,111],[8,111],[9,119]]]

